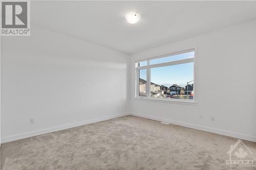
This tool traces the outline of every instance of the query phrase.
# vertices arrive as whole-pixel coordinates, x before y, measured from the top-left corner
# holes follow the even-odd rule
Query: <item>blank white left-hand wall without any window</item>
[[[1,41],[2,142],[129,111],[129,55],[37,27]]]

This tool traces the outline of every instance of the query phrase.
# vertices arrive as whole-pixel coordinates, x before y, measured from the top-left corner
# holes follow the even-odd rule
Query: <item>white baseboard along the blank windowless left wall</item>
[[[14,141],[14,140],[18,140],[18,139],[24,139],[27,137],[42,135],[42,134],[46,134],[46,133],[51,133],[51,132],[55,132],[55,131],[65,130],[65,129],[74,128],[77,126],[96,123],[96,122],[101,122],[103,120],[109,120],[112,118],[122,117],[122,116],[126,116],[126,115],[129,115],[129,113],[105,116],[105,117],[101,117],[101,118],[95,118],[95,119],[86,120],[83,122],[74,123],[74,124],[68,124],[68,125],[63,125],[63,126],[58,126],[58,127],[48,128],[48,129],[42,129],[42,130],[28,132],[28,133],[22,133],[22,134],[18,134],[18,135],[7,136],[7,137],[1,138],[1,143]]]

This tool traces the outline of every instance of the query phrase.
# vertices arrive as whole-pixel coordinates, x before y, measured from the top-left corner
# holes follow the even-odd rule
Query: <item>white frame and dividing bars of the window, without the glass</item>
[[[164,62],[164,63],[159,63],[159,64],[152,64],[150,65],[150,60],[153,59],[158,59],[158,58],[164,58],[164,57],[170,57],[170,56],[175,56],[179,54],[184,54],[184,53],[189,53],[189,52],[195,52],[194,58],[188,58],[188,59],[181,59],[181,60],[175,60],[175,61],[169,61],[169,62]],[[147,61],[147,65],[145,66],[138,66],[139,62]],[[151,68],[155,67],[163,67],[163,66],[170,66],[170,65],[177,65],[177,64],[185,64],[185,63],[191,63],[193,62],[193,80],[194,80],[194,98],[193,100],[187,100],[187,99],[166,99],[166,98],[151,98]],[[196,96],[196,81],[195,81],[195,62],[196,62],[196,48],[189,48],[187,50],[182,50],[179,52],[173,52],[173,53],[168,53],[156,57],[150,57],[142,60],[136,60],[136,99],[142,99],[142,100],[154,100],[154,101],[172,101],[172,102],[186,102],[186,103],[195,103],[195,96]],[[139,70],[140,69],[146,69],[146,97],[144,96],[139,96]]]

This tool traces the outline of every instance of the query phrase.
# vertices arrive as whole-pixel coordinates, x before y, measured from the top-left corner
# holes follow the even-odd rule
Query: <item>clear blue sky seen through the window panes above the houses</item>
[[[193,57],[194,52],[190,52],[160,59],[154,59],[151,60],[150,63],[157,64]],[[164,85],[167,87],[173,84],[178,84],[184,87],[186,85],[186,82],[193,80],[193,67],[193,63],[185,63],[179,65],[151,68],[151,82],[156,83],[158,85]],[[146,79],[146,69],[140,70],[140,78]]]

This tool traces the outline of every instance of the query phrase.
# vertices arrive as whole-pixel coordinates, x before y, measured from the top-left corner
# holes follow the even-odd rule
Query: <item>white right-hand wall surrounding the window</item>
[[[132,55],[131,111],[147,118],[256,141],[255,35],[253,20]],[[197,105],[134,99],[136,60],[194,46]],[[199,119],[199,114],[204,118]],[[210,121],[210,115],[215,116],[215,122]]]

